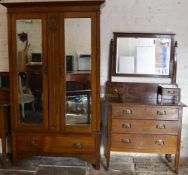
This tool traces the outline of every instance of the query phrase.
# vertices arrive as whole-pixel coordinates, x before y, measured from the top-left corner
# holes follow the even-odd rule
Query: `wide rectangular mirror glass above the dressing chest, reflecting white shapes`
[[[115,42],[116,75],[170,75],[171,36],[117,36]]]

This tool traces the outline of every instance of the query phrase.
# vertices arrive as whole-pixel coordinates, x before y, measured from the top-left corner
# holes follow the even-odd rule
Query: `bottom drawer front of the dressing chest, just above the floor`
[[[112,134],[112,150],[175,153],[177,136]]]

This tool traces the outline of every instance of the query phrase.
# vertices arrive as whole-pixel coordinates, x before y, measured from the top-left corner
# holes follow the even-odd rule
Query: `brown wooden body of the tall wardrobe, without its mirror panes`
[[[100,5],[104,0],[62,0],[61,2],[1,3],[8,9],[9,65],[13,162],[34,155],[79,157],[100,167]],[[24,7],[24,8],[23,8]],[[91,18],[91,75],[65,76],[64,18]],[[19,121],[16,52],[16,19],[42,20],[40,66],[27,66],[42,76],[44,121]],[[66,80],[91,81],[91,124],[65,124]]]

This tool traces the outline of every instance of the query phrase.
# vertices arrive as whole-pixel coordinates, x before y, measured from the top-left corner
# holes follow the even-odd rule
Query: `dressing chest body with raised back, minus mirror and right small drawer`
[[[172,99],[161,104],[157,92],[158,84],[107,82],[107,167],[111,151],[175,154],[178,172],[182,109],[186,105]]]

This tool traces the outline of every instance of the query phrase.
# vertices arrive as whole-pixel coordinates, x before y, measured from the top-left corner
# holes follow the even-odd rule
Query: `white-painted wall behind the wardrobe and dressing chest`
[[[106,0],[101,10],[101,86],[108,78],[109,43],[113,32],[175,33],[178,41],[177,83],[182,89],[182,101],[188,104],[187,9],[188,0]],[[1,70],[8,69],[7,58],[6,9],[0,6]],[[185,108],[183,122],[188,123],[186,116],[188,110]]]

